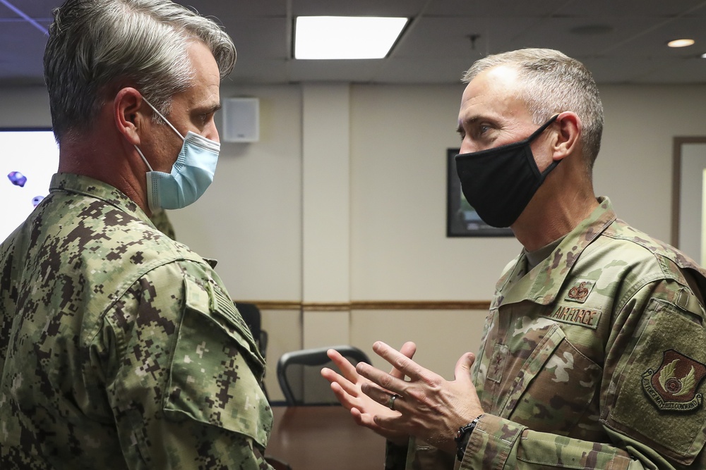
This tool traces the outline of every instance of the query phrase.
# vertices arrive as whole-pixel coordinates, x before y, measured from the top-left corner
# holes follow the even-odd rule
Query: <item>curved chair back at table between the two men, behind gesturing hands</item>
[[[357,347],[341,345],[317,347],[308,350],[285,352],[277,361],[277,381],[289,406],[340,404],[331,390],[330,383],[321,376],[325,366],[336,370],[326,352],[337,350],[351,364],[370,364],[368,356]]]

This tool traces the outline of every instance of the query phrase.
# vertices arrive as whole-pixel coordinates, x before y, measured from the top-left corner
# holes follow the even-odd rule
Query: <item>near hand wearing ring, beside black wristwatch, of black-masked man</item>
[[[385,373],[364,363],[356,367],[359,376],[368,379],[359,381],[362,392],[378,404],[373,422],[382,432],[414,435],[438,449],[454,452],[455,431],[483,413],[470,376],[474,355],[467,352],[458,359],[456,380],[450,382],[383,342],[376,342],[373,351],[397,371]],[[400,376],[409,377],[409,381]],[[385,406],[390,393],[400,395],[395,412]]]

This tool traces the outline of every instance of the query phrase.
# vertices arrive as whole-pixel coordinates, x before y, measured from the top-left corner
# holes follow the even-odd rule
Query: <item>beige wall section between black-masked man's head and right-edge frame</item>
[[[601,90],[606,130],[596,192],[609,195],[628,223],[671,242],[672,139],[706,136],[706,86]]]

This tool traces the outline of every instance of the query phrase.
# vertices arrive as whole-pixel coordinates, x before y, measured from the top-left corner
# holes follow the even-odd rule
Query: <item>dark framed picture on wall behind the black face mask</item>
[[[461,191],[455,156],[459,149],[446,149],[446,236],[512,237],[510,228],[491,227],[478,216]]]

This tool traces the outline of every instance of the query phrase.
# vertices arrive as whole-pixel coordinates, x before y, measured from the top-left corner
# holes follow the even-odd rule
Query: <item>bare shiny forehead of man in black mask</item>
[[[496,66],[476,75],[461,98],[459,118],[525,116],[525,103],[518,98],[520,80],[512,66]]]

